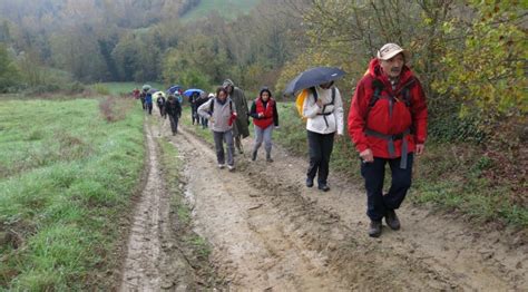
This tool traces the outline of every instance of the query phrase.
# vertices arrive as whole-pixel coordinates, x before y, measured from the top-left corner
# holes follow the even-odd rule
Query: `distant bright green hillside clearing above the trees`
[[[185,13],[180,19],[183,21],[192,21],[205,18],[213,11],[218,12],[222,17],[233,20],[241,13],[247,13],[261,0],[202,0],[199,4]]]

